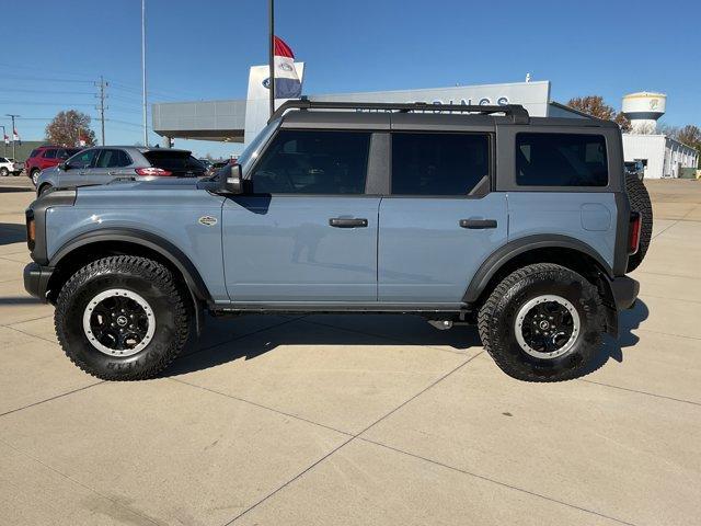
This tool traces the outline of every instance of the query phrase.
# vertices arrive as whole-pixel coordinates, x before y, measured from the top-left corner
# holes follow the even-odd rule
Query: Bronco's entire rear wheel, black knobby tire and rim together
[[[604,332],[599,293],[564,266],[539,263],[506,276],[480,309],[484,348],[507,375],[560,381],[586,374]]]

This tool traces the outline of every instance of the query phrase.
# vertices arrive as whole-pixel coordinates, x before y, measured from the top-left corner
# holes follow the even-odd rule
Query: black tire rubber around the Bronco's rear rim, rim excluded
[[[567,299],[576,309],[581,329],[572,348],[556,358],[526,353],[516,339],[516,316],[529,300],[542,295]],[[551,263],[525,266],[506,276],[478,316],[480,338],[496,365],[526,381],[562,381],[591,370],[601,344],[605,312],[597,287],[570,268]]]

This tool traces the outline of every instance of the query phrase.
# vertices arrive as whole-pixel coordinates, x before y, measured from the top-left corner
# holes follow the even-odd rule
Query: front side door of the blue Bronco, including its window
[[[365,195],[370,134],[283,129],[223,206],[234,302],[377,300],[380,198]]]

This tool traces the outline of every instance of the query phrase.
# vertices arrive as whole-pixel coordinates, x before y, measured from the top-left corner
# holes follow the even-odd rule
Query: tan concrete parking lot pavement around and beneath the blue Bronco
[[[648,183],[641,299],[554,385],[393,316],[209,319],[161,378],[99,381],[24,291],[26,178],[0,186],[2,525],[701,522],[701,182]]]

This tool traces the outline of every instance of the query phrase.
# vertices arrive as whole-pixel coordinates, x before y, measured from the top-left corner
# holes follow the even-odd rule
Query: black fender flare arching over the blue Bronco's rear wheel
[[[484,291],[492,277],[494,277],[499,268],[502,268],[514,258],[531,250],[549,248],[570,249],[582,252],[594,259],[594,261],[598,263],[599,267],[606,273],[607,277],[613,277],[611,265],[609,265],[596,250],[594,250],[584,241],[571,238],[570,236],[554,233],[526,236],[524,238],[518,238],[509,241],[506,244],[503,244],[482,262],[480,268],[478,268],[478,272],[472,277],[470,285],[468,285],[462,300],[466,304],[475,302]]]

